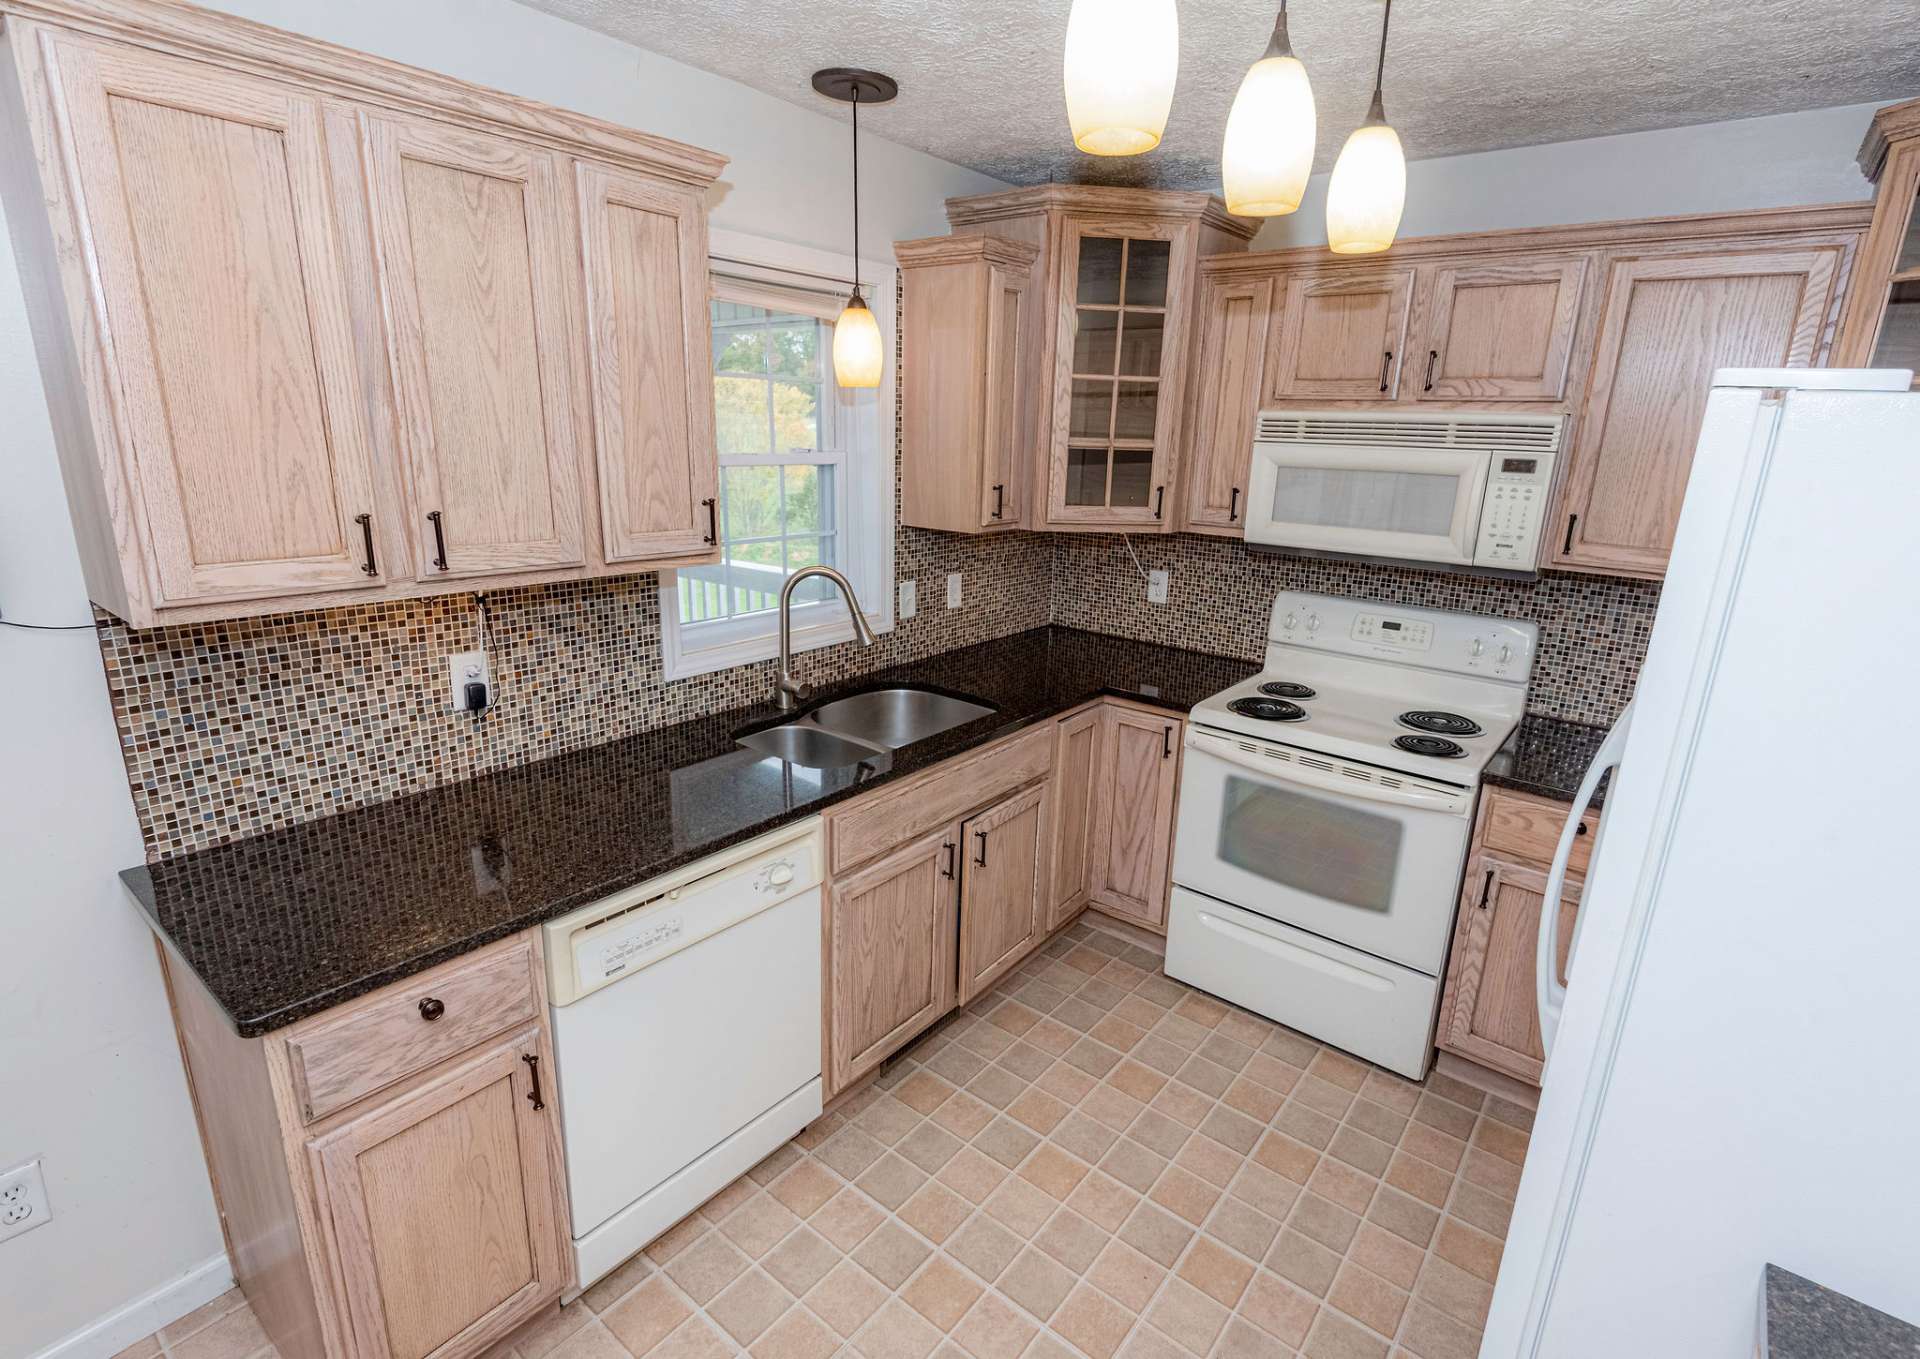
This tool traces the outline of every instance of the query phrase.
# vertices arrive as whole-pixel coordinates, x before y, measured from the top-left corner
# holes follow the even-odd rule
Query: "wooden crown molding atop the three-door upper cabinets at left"
[[[728,163],[726,155],[685,142],[177,0],[0,0],[0,23],[12,27],[21,19],[213,60],[267,79],[303,77],[317,94],[503,131],[570,152],[589,150],[697,188]]]

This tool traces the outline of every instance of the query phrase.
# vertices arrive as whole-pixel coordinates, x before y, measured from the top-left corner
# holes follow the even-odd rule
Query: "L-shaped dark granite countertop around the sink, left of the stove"
[[[280,1029],[820,812],[1098,695],[1185,712],[1260,670],[1037,628],[822,691],[914,683],[995,704],[885,760],[806,770],[733,743],[772,703],[121,873],[240,1037]]]

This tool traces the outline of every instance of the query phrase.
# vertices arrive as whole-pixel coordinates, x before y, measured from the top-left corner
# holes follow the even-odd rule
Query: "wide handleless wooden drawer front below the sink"
[[[958,822],[1018,787],[1046,777],[1054,766],[1054,724],[1043,722],[1010,741],[958,756],[902,787],[877,791],[828,812],[833,871],[845,873],[876,854]]]

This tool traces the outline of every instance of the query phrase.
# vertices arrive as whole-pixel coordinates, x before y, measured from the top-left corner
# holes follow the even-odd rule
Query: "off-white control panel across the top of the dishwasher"
[[[549,921],[547,990],[568,1006],[799,893],[818,891],[820,829],[737,845]]]

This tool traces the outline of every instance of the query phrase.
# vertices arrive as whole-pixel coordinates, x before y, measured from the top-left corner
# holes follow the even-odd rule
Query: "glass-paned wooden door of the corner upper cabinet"
[[[1056,524],[1169,524],[1192,232],[1187,223],[1066,223],[1046,495]]]

